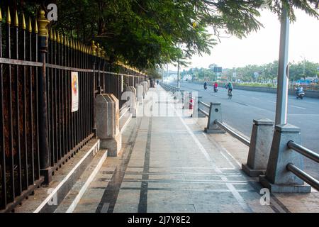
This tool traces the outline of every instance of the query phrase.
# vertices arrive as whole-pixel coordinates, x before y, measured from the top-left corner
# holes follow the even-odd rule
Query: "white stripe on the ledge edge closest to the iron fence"
[[[67,182],[67,180],[73,175],[74,171],[77,170],[79,165],[81,165],[82,162],[84,162],[86,157],[91,155],[92,151],[94,153],[94,150],[96,149],[96,147],[99,148],[99,144],[100,144],[100,140],[96,141],[96,143],[91,147],[91,149],[88,152],[86,152],[84,157],[82,157],[82,159],[79,162],[77,162],[77,165],[73,167],[73,169],[69,172],[69,174],[62,180],[62,182],[60,182],[60,184],[57,185],[57,187],[55,187],[55,189],[52,190],[52,192],[47,196],[47,198],[45,198],[45,200],[40,204],[40,206],[38,206],[38,208],[35,209],[35,211],[33,211],[33,213],[39,213],[41,209],[43,209],[45,204],[47,204],[47,202],[49,202],[52,199],[52,197],[55,196],[55,194],[57,193],[57,190],[59,190],[60,187],[62,187],[62,185],[65,184],[65,182]]]

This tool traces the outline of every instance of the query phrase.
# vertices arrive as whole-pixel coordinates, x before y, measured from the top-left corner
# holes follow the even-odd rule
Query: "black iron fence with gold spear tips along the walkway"
[[[15,16],[12,16],[15,15]],[[94,137],[94,97],[145,80],[105,51],[0,9],[0,210],[11,211]],[[11,20],[11,18],[13,18]],[[49,25],[50,26],[50,25]],[[72,111],[72,72],[78,109]]]

